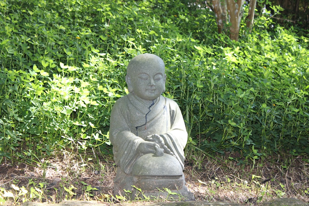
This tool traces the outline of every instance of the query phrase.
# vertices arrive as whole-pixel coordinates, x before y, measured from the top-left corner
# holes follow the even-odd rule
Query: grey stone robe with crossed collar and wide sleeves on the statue
[[[153,105],[146,105],[133,93],[116,101],[112,108],[109,133],[117,165],[115,190],[128,190],[131,186],[129,176],[132,167],[143,155],[138,151],[138,145],[152,134],[163,138],[167,148],[174,153],[184,169],[184,147],[188,133],[177,103],[160,96],[154,100]],[[121,186],[124,184],[123,180],[128,187]]]

